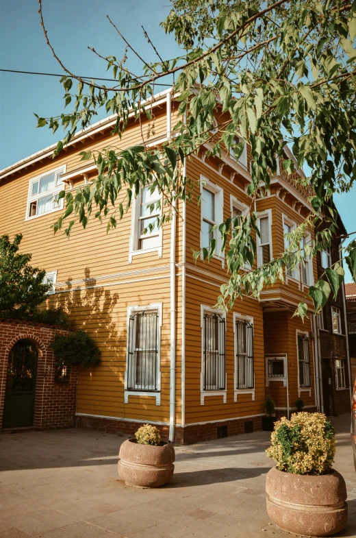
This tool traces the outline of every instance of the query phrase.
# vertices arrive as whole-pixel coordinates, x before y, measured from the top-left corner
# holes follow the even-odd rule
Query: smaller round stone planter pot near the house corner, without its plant
[[[118,474],[128,486],[162,486],[175,470],[175,449],[169,443],[140,445],[136,439],[127,439],[120,446],[118,458]]]

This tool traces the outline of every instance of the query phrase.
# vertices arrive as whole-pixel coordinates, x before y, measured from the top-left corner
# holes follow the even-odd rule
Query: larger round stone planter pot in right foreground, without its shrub
[[[308,476],[270,469],[266,478],[267,512],[290,533],[330,536],[347,521],[345,480],[337,471]]]

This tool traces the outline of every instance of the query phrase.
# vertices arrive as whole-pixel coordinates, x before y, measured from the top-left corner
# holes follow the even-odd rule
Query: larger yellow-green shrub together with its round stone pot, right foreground
[[[275,424],[266,450],[277,465],[266,478],[267,511],[281,529],[330,536],[347,521],[346,485],[333,469],[335,431],[322,413],[294,413]]]

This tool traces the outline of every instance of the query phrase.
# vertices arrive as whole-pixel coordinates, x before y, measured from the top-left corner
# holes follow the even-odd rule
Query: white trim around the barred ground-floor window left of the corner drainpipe
[[[157,334],[157,391],[129,391],[127,389],[127,371],[129,369],[129,319],[137,312],[158,312],[158,334]],[[147,305],[135,305],[127,306],[127,318],[126,318],[126,367],[125,367],[125,391],[124,391],[124,403],[129,402],[129,396],[154,396],[156,399],[156,405],[161,405],[161,327],[162,327],[162,303],[151,303]]]

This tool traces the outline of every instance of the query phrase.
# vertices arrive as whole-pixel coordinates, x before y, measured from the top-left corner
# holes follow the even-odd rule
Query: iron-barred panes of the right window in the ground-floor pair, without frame
[[[253,324],[236,320],[236,389],[253,389]]]

